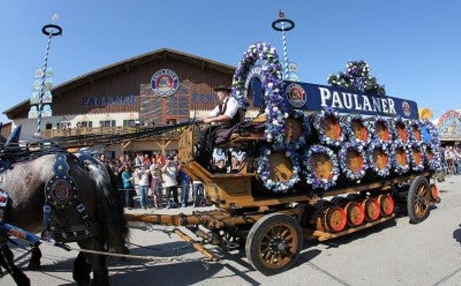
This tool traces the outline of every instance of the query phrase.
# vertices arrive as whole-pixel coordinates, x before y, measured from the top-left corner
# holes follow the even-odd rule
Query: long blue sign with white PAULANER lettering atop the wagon
[[[341,113],[418,118],[416,102],[391,96],[364,94],[341,87],[286,82],[284,98],[293,108],[323,110],[335,108]]]

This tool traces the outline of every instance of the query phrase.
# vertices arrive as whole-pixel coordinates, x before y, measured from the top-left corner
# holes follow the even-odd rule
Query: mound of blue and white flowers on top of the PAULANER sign
[[[383,85],[379,85],[374,76],[369,75],[369,66],[363,59],[347,62],[346,72],[328,76],[328,83],[349,90],[358,90],[369,94],[386,94]]]

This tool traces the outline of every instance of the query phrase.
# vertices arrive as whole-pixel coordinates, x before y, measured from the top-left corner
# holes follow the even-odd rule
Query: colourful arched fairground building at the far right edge
[[[439,131],[442,145],[461,142],[461,109],[448,110],[432,123]]]

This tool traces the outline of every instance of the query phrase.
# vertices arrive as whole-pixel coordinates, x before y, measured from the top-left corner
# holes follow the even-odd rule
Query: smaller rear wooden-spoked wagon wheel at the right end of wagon
[[[407,210],[410,222],[418,224],[429,215],[430,187],[427,179],[418,176],[411,181],[407,196]]]

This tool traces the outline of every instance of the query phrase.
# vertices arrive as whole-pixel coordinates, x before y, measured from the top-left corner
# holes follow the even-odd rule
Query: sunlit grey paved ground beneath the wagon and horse
[[[201,262],[154,265],[110,259],[111,282],[137,286],[461,285],[460,185],[461,176],[439,183],[442,201],[422,224],[409,224],[408,218],[402,217],[328,244],[306,244],[298,264],[277,276],[261,275],[242,254],[233,252],[207,267]],[[133,230],[131,241],[154,248],[132,245],[136,255],[200,258],[186,243],[160,231]],[[27,253],[21,248],[14,251],[17,263],[27,265]],[[75,253],[44,246],[43,254],[43,269],[26,271],[33,285],[73,285]],[[0,281],[1,285],[13,285],[10,276]]]

